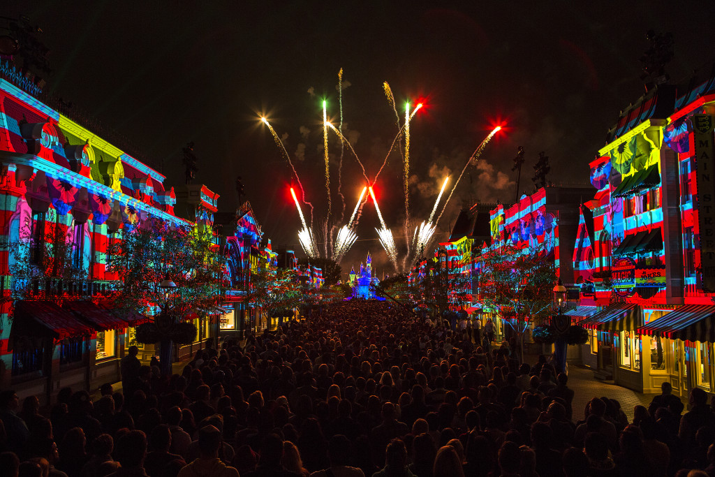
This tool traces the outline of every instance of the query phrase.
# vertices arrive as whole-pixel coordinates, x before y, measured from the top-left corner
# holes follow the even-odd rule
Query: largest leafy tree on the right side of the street
[[[543,248],[494,247],[478,262],[479,300],[508,318],[521,340],[529,323],[551,314],[556,269]]]

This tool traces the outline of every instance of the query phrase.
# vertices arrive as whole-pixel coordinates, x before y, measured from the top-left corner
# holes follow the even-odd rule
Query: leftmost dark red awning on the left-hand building
[[[91,335],[92,328],[55,303],[21,300],[15,304],[11,334],[42,334],[62,340],[73,336]]]

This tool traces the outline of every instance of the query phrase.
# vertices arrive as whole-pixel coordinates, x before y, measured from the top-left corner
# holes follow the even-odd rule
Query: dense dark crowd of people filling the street
[[[226,340],[163,377],[135,349],[122,392],[0,393],[0,476],[715,476],[715,413],[664,385],[632,422],[574,409],[565,374],[373,300]],[[687,411],[687,412],[686,412]]]

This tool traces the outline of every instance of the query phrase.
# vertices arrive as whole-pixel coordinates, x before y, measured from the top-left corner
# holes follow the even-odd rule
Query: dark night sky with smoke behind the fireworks
[[[548,180],[588,183],[588,162],[609,127],[644,93],[638,59],[649,47],[647,30],[674,34],[675,57],[666,67],[673,82],[709,67],[715,56],[711,1],[4,2],[2,15],[19,14],[41,27],[39,38],[51,49],[46,89],[141,144],[147,157],[137,159],[163,163],[169,186],[184,182],[181,149],[194,141],[197,180],[220,193],[220,210],[235,209],[241,175],[274,249],[287,246],[300,256],[300,219],[287,192],[295,180],[258,119],[265,114],[283,138],[319,222],[327,203],[322,99],[337,124],[340,68],[344,134],[369,177],[398,131],[383,82],[402,117],[406,100],[424,99],[410,123],[410,213],[419,220],[445,174],[455,178],[490,129],[506,126],[460,182],[438,227],[443,240],[463,205],[513,201],[511,167],[520,145],[521,192],[533,190],[540,151],[551,160]],[[329,150],[337,221],[335,134]],[[365,182],[347,150],[342,164],[339,225]],[[398,245],[402,169],[395,150],[375,186]],[[368,203],[343,271],[370,250],[378,271],[390,272],[378,225]]]

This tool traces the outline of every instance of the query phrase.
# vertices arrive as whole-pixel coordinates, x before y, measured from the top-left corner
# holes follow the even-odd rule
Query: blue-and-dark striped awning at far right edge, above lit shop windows
[[[714,320],[715,306],[684,305],[638,328],[638,333],[671,340],[715,342]]]

